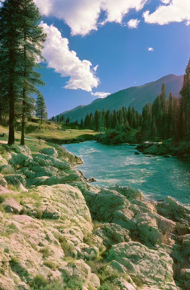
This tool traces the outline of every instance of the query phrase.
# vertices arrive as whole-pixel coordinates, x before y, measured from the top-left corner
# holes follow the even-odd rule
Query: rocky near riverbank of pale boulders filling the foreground
[[[0,289],[190,289],[190,209],[93,186],[80,163],[0,146]]]

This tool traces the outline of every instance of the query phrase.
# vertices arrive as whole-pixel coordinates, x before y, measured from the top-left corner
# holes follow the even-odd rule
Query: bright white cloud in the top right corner
[[[145,22],[164,25],[170,22],[186,21],[187,25],[189,24],[189,0],[162,0],[162,2],[166,5],[160,5],[152,14],[150,14],[150,11],[143,13]]]

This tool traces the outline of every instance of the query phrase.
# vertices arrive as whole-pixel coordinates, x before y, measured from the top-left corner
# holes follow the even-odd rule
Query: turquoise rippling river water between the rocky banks
[[[63,144],[69,152],[82,158],[77,168],[92,183],[101,187],[119,184],[139,188],[153,199],[168,195],[190,205],[190,164],[176,157],[164,158],[140,153],[135,155],[135,145],[107,145],[96,141]]]

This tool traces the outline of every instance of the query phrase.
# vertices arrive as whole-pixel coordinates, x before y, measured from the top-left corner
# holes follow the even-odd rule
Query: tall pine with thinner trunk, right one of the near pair
[[[38,24],[41,21],[41,15],[33,0],[19,0],[19,31],[22,35],[22,134],[21,145],[24,145],[24,127],[27,108],[30,107],[30,94],[40,94],[36,88],[39,85],[45,85],[41,80],[41,74],[34,70],[39,67],[38,59],[42,58],[42,44],[46,35],[42,32],[42,27]]]

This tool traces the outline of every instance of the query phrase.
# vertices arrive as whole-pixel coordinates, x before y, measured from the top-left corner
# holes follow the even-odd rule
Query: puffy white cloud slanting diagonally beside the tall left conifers
[[[96,77],[91,69],[92,63],[88,60],[81,61],[76,52],[69,50],[67,38],[61,36],[61,32],[53,25],[48,26],[41,22],[40,26],[47,33],[47,40],[44,42],[42,55],[47,60],[47,66],[54,68],[55,72],[60,73],[62,77],[70,77],[67,89],[82,89],[88,92],[92,88],[97,88],[99,78]]]

